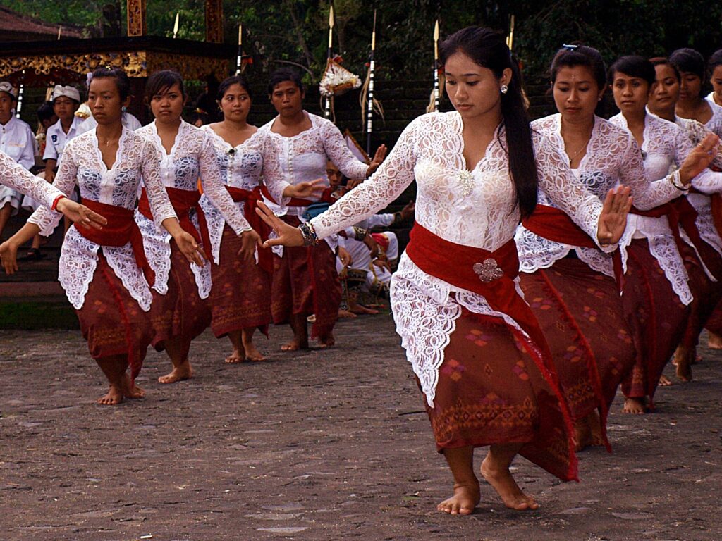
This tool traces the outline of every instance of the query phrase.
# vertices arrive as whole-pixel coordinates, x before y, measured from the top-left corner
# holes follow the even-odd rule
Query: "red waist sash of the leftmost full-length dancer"
[[[95,244],[100,246],[124,246],[130,242],[136,263],[138,263],[139,268],[143,271],[143,276],[145,276],[148,285],[152,286],[153,283],[155,283],[155,273],[153,269],[150,268],[148,260],[145,257],[143,235],[134,219],[134,211],[120,206],[98,203],[91,199],[83,199],[83,204],[87,206],[87,208],[90,208],[91,211],[105,216],[105,218],[108,219],[108,224],[104,225],[103,229],[78,227],[77,224],[74,224],[77,232],[90,240],[90,242],[95,242]]]

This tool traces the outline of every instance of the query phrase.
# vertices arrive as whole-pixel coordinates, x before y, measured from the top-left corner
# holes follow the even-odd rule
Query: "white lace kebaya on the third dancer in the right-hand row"
[[[627,128],[627,119],[622,113],[609,119],[615,125]],[[666,177],[673,166],[679,167],[687,155],[694,149],[689,136],[677,124],[663,120],[655,115],[645,115],[644,142],[642,151],[644,169],[647,177],[657,180]],[[719,189],[722,177],[718,173],[705,170],[692,179],[692,186],[699,190]],[[679,193],[682,195],[682,192]],[[677,243],[674,241],[666,216],[653,218],[630,214],[627,219],[627,230],[619,241],[622,254],[622,265],[627,268],[627,246],[632,239],[648,239],[649,251],[658,261],[672,289],[683,304],[692,302],[692,291],[687,283],[689,277],[684,268],[682,256],[679,255]]]

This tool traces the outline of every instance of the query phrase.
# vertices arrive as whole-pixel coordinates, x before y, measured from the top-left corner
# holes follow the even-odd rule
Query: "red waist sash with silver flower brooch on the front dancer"
[[[541,351],[549,374],[554,374],[547,339],[529,304],[516,290],[514,278],[519,273],[519,260],[514,239],[490,252],[449,242],[414,224],[406,255],[425,273],[484,296],[492,310],[512,317]],[[556,382],[555,375],[553,378]]]

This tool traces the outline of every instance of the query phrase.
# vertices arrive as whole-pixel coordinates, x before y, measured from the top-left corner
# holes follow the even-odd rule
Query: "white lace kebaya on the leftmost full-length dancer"
[[[155,224],[160,227],[163,220],[176,216],[160,182],[155,151],[150,141],[126,128],[123,128],[118,141],[116,161],[110,170],[100,154],[95,128],[69,141],[60,159],[53,185],[66,195],[70,195],[75,185],[78,185],[83,200],[132,210],[136,206],[141,177],[145,179]],[[61,216],[40,207],[28,222],[38,225],[40,233],[47,236],[58,225]],[[68,229],[61,248],[58,279],[75,309],[83,306],[95,273],[98,250],[100,245],[83,237],[75,227]],[[138,268],[130,242],[117,247],[103,246],[103,255],[129,294],[147,312],[152,295]]]

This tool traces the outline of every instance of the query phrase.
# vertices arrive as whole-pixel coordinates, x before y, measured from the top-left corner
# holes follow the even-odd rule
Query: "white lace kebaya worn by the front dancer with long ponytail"
[[[430,113],[414,120],[372,177],[311,220],[318,237],[375,214],[399,197],[415,177],[416,220],[420,225],[456,244],[490,251],[502,247],[514,237],[519,223],[505,131],[497,131],[484,158],[469,171],[464,160],[463,127],[461,115],[456,112]],[[573,182],[565,160],[547,138],[535,134],[534,146],[539,185],[596,239],[599,199]],[[461,307],[503,318],[521,330],[508,315],[494,312],[483,296],[430,276],[405,253],[401,256],[399,270],[391,281],[391,308],[406,357],[431,407],[438,369]]]

